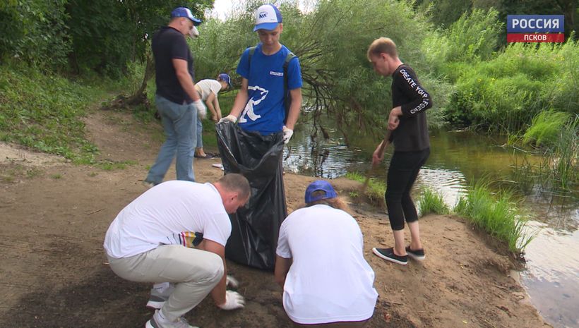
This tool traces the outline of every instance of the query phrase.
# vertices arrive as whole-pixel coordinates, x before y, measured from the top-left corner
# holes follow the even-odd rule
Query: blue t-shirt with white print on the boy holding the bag
[[[248,80],[248,102],[241,111],[237,123],[245,131],[257,131],[261,135],[280,132],[285,119],[283,63],[290,53],[284,45],[280,51],[266,56],[261,51],[261,43],[251,55],[249,48],[244,51],[237,65],[237,74]],[[299,59],[294,57],[287,66],[287,88],[302,87],[302,71]]]

